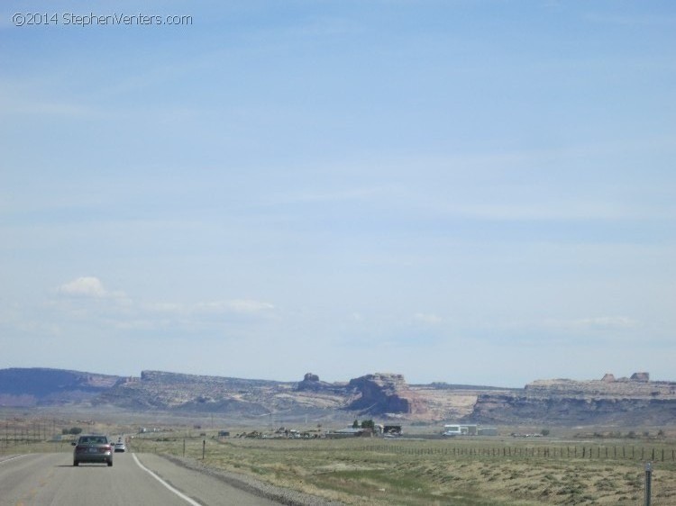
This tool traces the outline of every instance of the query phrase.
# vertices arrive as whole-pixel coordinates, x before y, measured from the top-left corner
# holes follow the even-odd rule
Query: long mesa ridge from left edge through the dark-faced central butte
[[[425,405],[402,375],[367,375],[348,384],[323,382],[307,373],[296,384],[150,370],[131,378],[49,369],[0,370],[0,405],[65,403],[242,417],[275,412],[324,415],[326,410],[411,414],[424,412]]]

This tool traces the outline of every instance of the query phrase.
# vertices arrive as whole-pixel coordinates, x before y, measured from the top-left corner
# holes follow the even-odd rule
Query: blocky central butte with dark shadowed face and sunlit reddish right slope
[[[425,402],[410,388],[403,375],[376,373],[350,380],[356,398],[347,409],[368,414],[425,412]]]

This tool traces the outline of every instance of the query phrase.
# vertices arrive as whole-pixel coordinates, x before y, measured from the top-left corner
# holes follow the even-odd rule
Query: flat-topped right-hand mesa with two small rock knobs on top
[[[676,383],[647,373],[601,380],[539,380],[523,392],[483,393],[471,420],[482,423],[665,424],[676,421]]]

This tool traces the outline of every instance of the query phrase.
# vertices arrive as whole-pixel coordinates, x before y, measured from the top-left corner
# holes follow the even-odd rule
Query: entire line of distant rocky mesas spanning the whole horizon
[[[220,413],[242,420],[366,416],[493,425],[666,425],[676,423],[676,382],[651,381],[647,372],[631,377],[607,373],[586,381],[535,380],[524,388],[499,388],[407,384],[403,375],[389,373],[328,383],[314,373],[306,373],[299,382],[279,382],[152,370],[125,377],[0,369],[0,407],[41,406]]]

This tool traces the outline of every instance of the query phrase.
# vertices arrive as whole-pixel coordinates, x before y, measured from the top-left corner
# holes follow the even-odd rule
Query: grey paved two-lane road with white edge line
[[[152,454],[117,453],[113,467],[72,464],[69,453],[0,456],[0,505],[279,505]]]

